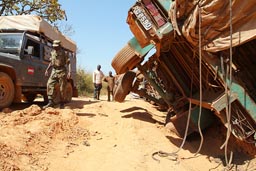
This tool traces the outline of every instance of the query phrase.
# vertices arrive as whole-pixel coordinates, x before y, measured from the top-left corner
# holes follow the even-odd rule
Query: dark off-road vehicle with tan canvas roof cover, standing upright
[[[53,40],[60,40],[71,61],[65,100],[77,96],[76,44],[41,17],[32,15],[0,17],[0,109],[13,102],[33,102],[37,95],[47,99],[44,75],[50,62]],[[56,86],[54,101],[59,101]]]

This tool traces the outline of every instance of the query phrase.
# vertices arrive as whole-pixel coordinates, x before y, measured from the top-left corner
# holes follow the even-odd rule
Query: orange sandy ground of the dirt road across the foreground
[[[221,126],[182,139],[164,126],[162,112],[142,99],[124,103],[74,98],[65,109],[42,103],[0,113],[1,171],[225,170]],[[232,144],[231,142],[230,144]],[[230,170],[256,170],[256,159],[231,145]],[[164,151],[172,155],[159,153]],[[155,155],[153,155],[155,154]],[[230,153],[229,153],[230,154]]]

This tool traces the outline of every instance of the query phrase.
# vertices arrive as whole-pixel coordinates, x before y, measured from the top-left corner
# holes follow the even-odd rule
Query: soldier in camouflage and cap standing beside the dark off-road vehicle
[[[53,102],[53,93],[54,88],[57,83],[60,85],[60,108],[64,108],[64,96],[65,88],[67,84],[67,78],[71,76],[71,65],[68,55],[65,54],[65,51],[60,46],[60,40],[53,41],[53,51],[51,52],[51,62],[49,63],[45,76],[49,75],[49,69],[52,69],[51,75],[47,82],[47,96],[48,104],[43,107],[53,107],[55,104]],[[68,71],[67,66],[68,65]]]

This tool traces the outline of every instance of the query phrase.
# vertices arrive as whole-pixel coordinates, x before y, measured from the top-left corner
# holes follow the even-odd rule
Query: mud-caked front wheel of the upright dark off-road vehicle
[[[14,91],[14,84],[10,76],[0,72],[0,109],[12,104]]]

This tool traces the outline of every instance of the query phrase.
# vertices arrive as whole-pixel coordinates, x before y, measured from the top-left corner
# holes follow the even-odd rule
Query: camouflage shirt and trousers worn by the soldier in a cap
[[[62,49],[53,50],[51,52],[51,65],[53,67],[51,76],[47,82],[47,95],[48,99],[52,99],[54,87],[57,83],[60,85],[60,97],[61,102],[64,102],[65,97],[65,87],[67,84],[67,68],[66,65],[69,64],[70,60],[67,55],[65,55]]]

